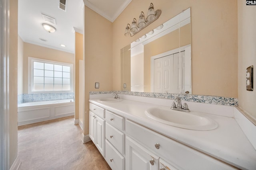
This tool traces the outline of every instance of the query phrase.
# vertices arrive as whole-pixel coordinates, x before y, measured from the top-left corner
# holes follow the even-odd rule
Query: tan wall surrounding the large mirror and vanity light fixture
[[[150,3],[161,16],[133,37],[124,30]],[[120,90],[120,49],[191,7],[192,94],[238,97],[236,0],[133,0],[113,23],[113,90]]]

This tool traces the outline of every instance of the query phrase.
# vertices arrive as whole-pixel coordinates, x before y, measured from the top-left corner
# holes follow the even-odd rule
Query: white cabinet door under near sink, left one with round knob
[[[158,170],[159,157],[126,137],[126,170]]]

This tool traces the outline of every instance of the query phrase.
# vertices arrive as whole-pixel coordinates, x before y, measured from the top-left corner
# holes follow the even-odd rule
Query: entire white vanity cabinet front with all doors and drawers
[[[112,170],[237,169],[100,106],[90,103],[89,136]]]

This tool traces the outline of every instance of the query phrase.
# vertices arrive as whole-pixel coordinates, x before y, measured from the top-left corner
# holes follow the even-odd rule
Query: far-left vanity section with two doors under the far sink
[[[90,104],[89,111],[89,137],[105,157],[105,120],[104,109]]]

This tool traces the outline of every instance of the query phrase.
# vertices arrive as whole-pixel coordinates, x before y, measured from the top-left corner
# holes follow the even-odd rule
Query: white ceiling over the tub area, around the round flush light
[[[77,32],[83,33],[84,3],[82,0],[66,0],[66,6],[60,6],[60,1],[63,2],[18,0],[18,35],[24,42],[74,53],[73,27]],[[42,23],[52,25],[56,31],[47,32]]]

